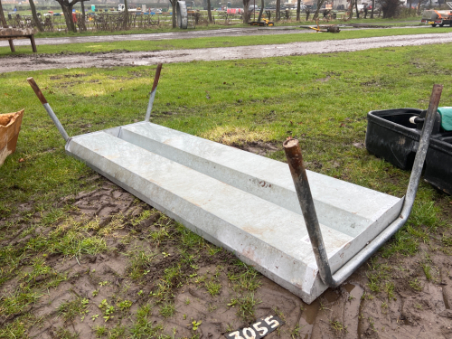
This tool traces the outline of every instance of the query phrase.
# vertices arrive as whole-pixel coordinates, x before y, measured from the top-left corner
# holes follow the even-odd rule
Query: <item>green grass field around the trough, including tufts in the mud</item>
[[[372,33],[351,32],[344,36],[350,36],[347,34]],[[305,36],[313,35],[297,38]],[[180,43],[182,46],[183,42]],[[281,161],[284,161],[282,142],[287,137],[297,137],[309,169],[401,197],[410,173],[367,153],[363,147],[366,114],[372,109],[427,108],[434,83],[445,85],[441,105],[451,106],[452,88],[447,85],[452,75],[449,50],[450,45],[444,44],[434,49],[431,46],[383,48],[265,60],[169,64],[162,71],[152,121],[228,145],[269,143],[278,150],[268,156]],[[13,337],[11,334],[26,337],[28,327],[43,321],[31,314],[30,306],[39,303],[48,289],[52,290],[68,278],[64,272],[46,266],[46,258],[76,256],[82,259],[114,251],[108,246],[108,240],[114,235],[113,226],[108,231],[99,224],[92,228],[92,225],[71,220],[68,212],[76,208],[64,198],[95,188],[96,183],[89,179],[94,172],[64,154],[64,141],[26,78],[34,77],[69,135],[76,136],[143,119],[154,72],[154,67],[134,67],[0,74],[2,111],[25,108],[17,150],[0,168],[0,241],[5,244],[0,248],[0,285],[14,286],[0,297],[0,314],[6,319],[5,324],[0,325],[1,338]],[[422,182],[410,221],[383,247],[379,256],[413,256],[420,244],[428,244],[432,251],[450,253],[451,211],[451,197]],[[127,222],[139,224],[152,214],[143,213],[130,217]],[[115,221],[118,229],[121,220]],[[158,222],[164,225],[163,220]],[[172,225],[167,227],[173,227],[173,231],[165,226],[159,233],[152,233],[153,241],[165,242],[171,235],[173,240],[185,244],[180,247],[183,251],[191,247],[190,241],[201,241],[190,238],[190,232],[180,225]],[[13,246],[10,238],[17,230],[23,231],[15,235],[19,240]],[[140,234],[129,232],[127,240],[141,237]],[[435,245],[438,241],[442,244],[440,247]],[[206,246],[202,242],[193,250],[197,255],[203,251],[215,252]],[[129,262],[126,279],[137,281],[134,279],[143,277],[145,263],[152,259],[145,254],[137,250],[119,253]],[[155,301],[155,307],[160,307],[158,312],[165,319],[174,314],[174,298],[165,288],[176,291],[193,283],[205,288],[211,296],[220,288],[214,274],[206,276],[205,281],[195,282],[195,276],[187,273],[174,278],[176,272],[172,272],[165,271],[164,281],[169,285],[151,291],[162,295],[155,297],[151,293],[149,297]],[[190,271],[190,274],[195,272]],[[384,275],[372,273],[370,288],[375,295],[392,281],[391,274],[385,272]],[[255,272],[245,269],[241,274],[251,277]],[[38,277],[47,278],[39,280]],[[238,281],[237,277],[233,276],[230,281]],[[244,319],[252,317],[247,312],[256,304],[250,294],[259,283],[253,279],[250,278],[254,281],[253,287],[245,283],[237,287],[243,295],[234,299]],[[413,286],[418,287],[414,282]],[[75,304],[61,306],[59,315],[66,322],[84,317],[87,303],[91,303],[77,300]],[[122,332],[118,329],[121,334],[114,336],[112,331],[117,318],[107,319],[109,329],[98,327],[99,337],[151,335],[146,332],[149,329],[144,329],[146,315],[150,312],[146,313],[145,306],[141,305],[137,311],[130,308],[129,299],[115,300],[118,302],[115,315],[119,315],[118,309],[121,309],[120,314],[132,319],[131,323],[121,327]],[[108,316],[108,307],[108,304],[99,306],[104,317]],[[153,330],[158,332],[156,327]],[[63,327],[61,331],[61,337],[76,337],[64,332],[67,330]]]

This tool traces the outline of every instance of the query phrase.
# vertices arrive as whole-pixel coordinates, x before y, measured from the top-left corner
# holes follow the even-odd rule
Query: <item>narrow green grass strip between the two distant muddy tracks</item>
[[[59,45],[40,45],[39,53],[60,53],[60,52],[114,52],[114,51],[162,51],[176,49],[212,48],[212,47],[233,47],[265,45],[273,43],[288,42],[317,42],[325,40],[346,40],[371,38],[378,36],[426,34],[426,33],[449,33],[448,27],[432,28],[394,28],[394,29],[372,29],[359,31],[346,31],[339,34],[331,33],[303,33],[303,34],[281,34],[281,35],[258,35],[258,36],[233,36],[215,38],[196,39],[175,39],[162,41],[126,41],[126,42],[86,42]],[[345,43],[345,42],[344,42]],[[18,53],[31,54],[30,46],[17,46]],[[0,57],[12,55],[9,47],[0,48]]]

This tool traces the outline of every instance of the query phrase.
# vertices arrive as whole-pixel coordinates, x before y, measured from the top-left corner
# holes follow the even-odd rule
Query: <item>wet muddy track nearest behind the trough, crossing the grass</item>
[[[108,52],[14,55],[1,58],[0,72],[61,68],[146,66],[158,62],[221,61],[363,51],[381,47],[418,46],[452,42],[452,33],[383,36],[323,42],[292,42],[268,46],[239,46],[159,52]]]

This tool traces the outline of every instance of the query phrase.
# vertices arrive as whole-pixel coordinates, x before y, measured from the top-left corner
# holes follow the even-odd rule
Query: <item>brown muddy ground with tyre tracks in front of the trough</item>
[[[278,147],[253,143],[240,148],[268,155]],[[89,182],[98,188],[56,203],[70,206],[58,224],[25,236],[20,234],[28,225],[23,225],[24,229],[12,232],[0,244],[20,247],[33,236],[70,227],[64,224],[68,220],[72,225],[94,221],[96,234],[107,239],[109,250],[97,255],[45,258],[47,265],[66,278],[24,310],[37,319],[28,330],[32,338],[72,338],[70,334],[80,338],[132,334],[138,338],[159,334],[221,338],[264,315],[278,315],[286,322],[268,338],[452,338],[452,260],[434,243],[421,245],[412,257],[382,259],[376,255],[343,286],[328,289],[306,305],[268,278],[240,266],[231,253],[181,231],[177,223],[116,184],[98,174],[89,177]],[[34,222],[40,218],[34,216]],[[150,257],[139,259],[146,253]],[[428,277],[422,268],[426,258]],[[30,260],[23,263],[25,272],[31,269],[27,268]],[[177,274],[168,278],[168,269],[176,267]],[[40,276],[35,282],[47,278]],[[385,279],[386,287],[372,291],[375,279]],[[16,278],[5,282],[0,297],[20,283]],[[250,298],[253,302],[245,305]],[[85,308],[71,314],[70,306],[83,299]],[[104,299],[116,307],[108,321],[103,318]],[[125,301],[130,304],[120,304]],[[168,305],[174,306],[169,314],[165,312]],[[20,315],[0,315],[0,326]],[[196,330],[193,321],[201,323]]]

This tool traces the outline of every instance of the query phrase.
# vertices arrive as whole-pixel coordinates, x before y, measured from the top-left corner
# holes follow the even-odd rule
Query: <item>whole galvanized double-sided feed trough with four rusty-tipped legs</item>
[[[152,124],[157,80],[145,121],[77,137],[68,137],[33,78],[29,82],[66,140],[68,155],[231,250],[306,303],[342,284],[407,221],[431,119],[407,196],[400,199],[305,171],[295,139],[284,143],[289,171],[284,163]],[[440,86],[434,89],[429,111],[436,111],[440,92]]]

